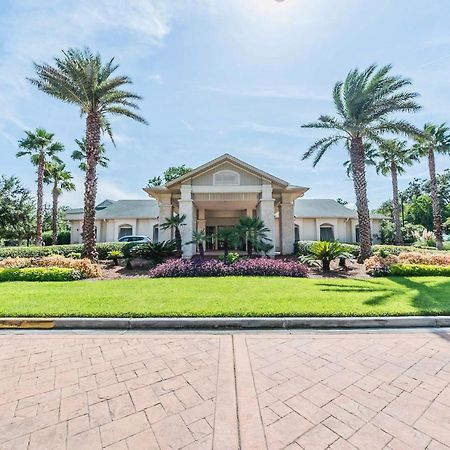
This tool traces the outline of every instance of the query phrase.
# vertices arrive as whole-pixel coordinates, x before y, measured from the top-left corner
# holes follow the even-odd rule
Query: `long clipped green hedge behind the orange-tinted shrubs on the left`
[[[122,250],[123,242],[101,242],[97,244],[99,259],[107,259],[112,250]],[[70,253],[81,253],[83,244],[49,245],[44,247],[2,247],[0,248],[0,259],[3,258],[33,258],[36,256],[62,255],[69,256]]]

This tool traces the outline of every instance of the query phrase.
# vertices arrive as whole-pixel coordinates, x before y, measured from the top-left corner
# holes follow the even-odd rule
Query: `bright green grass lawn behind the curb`
[[[3,317],[450,314],[447,277],[226,277],[0,283]]]

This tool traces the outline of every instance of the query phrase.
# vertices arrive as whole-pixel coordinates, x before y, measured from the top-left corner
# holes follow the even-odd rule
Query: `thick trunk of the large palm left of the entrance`
[[[84,182],[83,256],[98,259],[95,248],[95,202],[97,197],[97,162],[100,145],[100,115],[90,112],[86,118],[86,178]]]

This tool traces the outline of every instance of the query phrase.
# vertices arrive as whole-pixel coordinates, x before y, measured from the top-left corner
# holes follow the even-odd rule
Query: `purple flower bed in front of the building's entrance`
[[[150,270],[150,278],[174,277],[225,277],[225,276],[275,276],[306,277],[308,268],[296,261],[279,259],[241,259],[225,264],[216,259],[171,259]]]

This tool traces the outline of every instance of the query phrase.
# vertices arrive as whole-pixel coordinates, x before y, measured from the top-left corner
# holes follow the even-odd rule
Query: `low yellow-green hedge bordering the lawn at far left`
[[[73,281],[82,278],[81,272],[62,267],[24,267],[0,269],[2,281]]]

